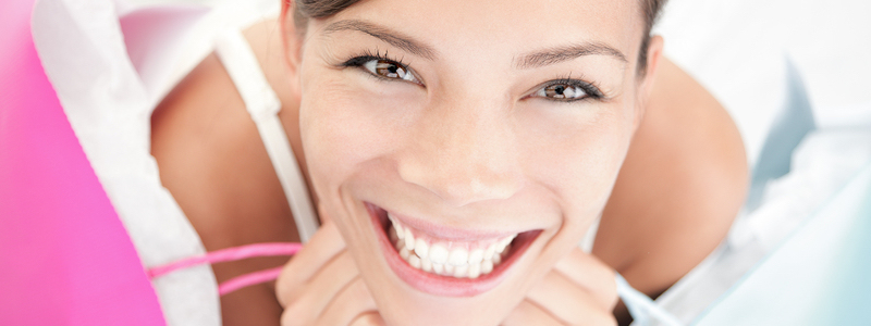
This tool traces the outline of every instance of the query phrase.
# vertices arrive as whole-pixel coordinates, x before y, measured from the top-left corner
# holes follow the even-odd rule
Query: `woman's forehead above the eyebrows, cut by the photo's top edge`
[[[588,41],[635,55],[643,21],[638,0],[365,0],[327,18],[365,20],[400,30],[436,49],[515,52],[518,47],[559,47]]]

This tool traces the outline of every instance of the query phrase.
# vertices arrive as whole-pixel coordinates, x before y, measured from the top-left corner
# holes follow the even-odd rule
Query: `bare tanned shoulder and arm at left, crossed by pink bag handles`
[[[270,84],[277,83],[274,74],[282,72],[269,60],[280,53],[268,51],[280,48],[263,43],[270,41],[269,35],[256,27],[246,30],[245,36]],[[272,86],[278,90],[284,85]],[[289,98],[283,92],[279,97],[283,104]],[[199,234],[206,250],[298,241],[257,127],[216,54],[208,55],[155,110],[151,154],[161,183]],[[286,258],[261,258],[216,264],[212,269],[221,283],[285,262]],[[275,325],[282,312],[270,284],[221,297],[221,309],[224,325]]]

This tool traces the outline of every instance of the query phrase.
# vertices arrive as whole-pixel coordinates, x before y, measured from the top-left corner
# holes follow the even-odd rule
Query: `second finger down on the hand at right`
[[[564,324],[613,324],[610,309],[603,308],[587,289],[556,272],[548,273],[526,298]]]

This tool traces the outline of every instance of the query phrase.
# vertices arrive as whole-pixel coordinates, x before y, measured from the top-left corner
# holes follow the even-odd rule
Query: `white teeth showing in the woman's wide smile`
[[[477,278],[493,271],[510,250],[511,241],[517,235],[495,240],[457,242],[433,241],[421,235],[415,237],[412,228],[403,226],[388,213],[393,227],[390,240],[400,256],[412,267],[443,276]]]

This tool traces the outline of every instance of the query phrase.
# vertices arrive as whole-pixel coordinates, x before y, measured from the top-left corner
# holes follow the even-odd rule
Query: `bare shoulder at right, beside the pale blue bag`
[[[744,145],[728,113],[663,60],[594,253],[633,286],[658,296],[725,237],[748,179]]]

